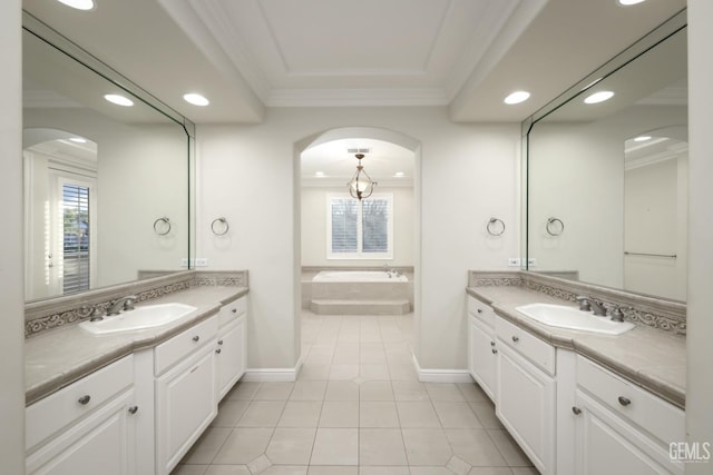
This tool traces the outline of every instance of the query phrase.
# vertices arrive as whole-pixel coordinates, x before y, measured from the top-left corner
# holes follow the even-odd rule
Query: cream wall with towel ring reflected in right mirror
[[[578,270],[624,286],[624,141],[687,123],[685,107],[631,107],[594,122],[541,122],[530,132],[529,257],[538,270]],[[565,230],[549,236],[549,217]]]

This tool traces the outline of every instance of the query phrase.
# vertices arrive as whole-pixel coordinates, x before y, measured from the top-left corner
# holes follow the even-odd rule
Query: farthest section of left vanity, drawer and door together
[[[221,308],[216,354],[218,400],[245,374],[247,342],[247,298],[242,297]]]

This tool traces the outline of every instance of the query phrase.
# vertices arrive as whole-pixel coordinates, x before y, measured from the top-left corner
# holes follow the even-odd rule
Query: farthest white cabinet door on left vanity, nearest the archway
[[[245,373],[244,335],[245,317],[221,329],[215,350],[217,365],[218,397],[222,399]]]

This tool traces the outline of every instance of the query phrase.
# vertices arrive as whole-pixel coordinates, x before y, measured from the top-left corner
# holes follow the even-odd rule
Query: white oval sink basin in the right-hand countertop
[[[598,317],[589,311],[553,304],[530,304],[515,308],[520,314],[550,327],[592,331],[605,335],[621,335],[634,328],[631,321],[613,321],[609,317]]]

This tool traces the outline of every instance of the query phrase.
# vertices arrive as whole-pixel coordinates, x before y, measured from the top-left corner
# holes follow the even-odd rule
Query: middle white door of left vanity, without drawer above
[[[215,340],[156,379],[156,468],[168,474],[217,414]]]

